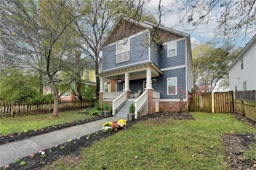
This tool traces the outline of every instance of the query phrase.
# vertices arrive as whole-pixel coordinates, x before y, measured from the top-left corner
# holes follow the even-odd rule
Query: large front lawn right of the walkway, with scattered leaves
[[[142,121],[84,148],[80,156],[67,156],[44,170],[230,169],[224,160],[222,136],[256,133],[255,127],[231,114],[192,115],[196,120]]]

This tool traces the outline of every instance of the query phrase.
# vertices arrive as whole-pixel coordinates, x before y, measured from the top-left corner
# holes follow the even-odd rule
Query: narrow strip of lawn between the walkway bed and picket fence
[[[24,130],[41,129],[51,125],[58,125],[92,117],[85,114],[78,114],[78,111],[80,110],[62,111],[58,113],[58,117],[52,117],[52,113],[46,113],[0,118],[0,135],[5,136],[14,132],[24,132]]]

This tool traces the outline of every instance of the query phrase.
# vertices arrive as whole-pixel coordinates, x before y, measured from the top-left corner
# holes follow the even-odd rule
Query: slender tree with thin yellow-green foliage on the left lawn
[[[73,26],[80,12],[66,0],[2,0],[0,10],[1,63],[38,71],[53,90],[53,116],[58,116],[59,97],[83,65],[75,62],[74,54],[78,35]],[[66,87],[59,93],[60,84]]]

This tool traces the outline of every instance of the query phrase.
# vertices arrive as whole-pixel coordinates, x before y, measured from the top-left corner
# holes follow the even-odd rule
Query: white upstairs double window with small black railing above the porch
[[[116,45],[116,64],[130,61],[130,43],[127,41]]]

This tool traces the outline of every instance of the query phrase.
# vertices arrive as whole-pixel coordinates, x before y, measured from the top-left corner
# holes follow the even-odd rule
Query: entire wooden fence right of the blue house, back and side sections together
[[[256,121],[256,90],[235,91],[234,97],[233,91],[193,94],[188,101],[188,111],[210,113],[232,113],[235,111]]]

